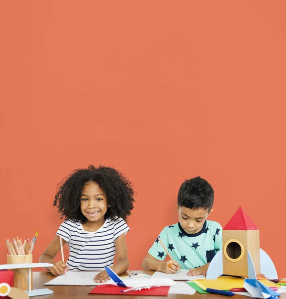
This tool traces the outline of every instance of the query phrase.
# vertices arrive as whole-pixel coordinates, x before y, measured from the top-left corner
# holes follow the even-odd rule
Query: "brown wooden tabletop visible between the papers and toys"
[[[136,271],[137,273],[144,273],[148,275],[152,275],[154,271]],[[132,275],[131,273],[124,273],[122,276],[126,275]],[[93,299],[93,298],[105,298],[105,299],[164,299],[166,297],[164,296],[130,296],[130,295],[95,295],[95,294],[89,294],[89,292],[95,288],[92,286],[43,286],[44,283],[47,283],[48,281],[55,278],[53,275],[51,275],[49,272],[34,272],[33,273],[33,287],[34,289],[50,289],[54,291],[52,295],[45,295],[44,297],[41,297],[42,299]],[[190,298],[190,295],[175,295],[170,294],[168,295],[168,299],[187,299]],[[241,295],[235,295],[235,297],[226,297],[226,296],[219,296],[219,295],[213,295],[213,294],[199,294],[195,293],[194,295],[191,295],[191,299],[227,299],[227,298],[235,298],[235,299],[249,299],[250,297],[241,296]],[[281,299],[286,299],[286,294],[282,294]]]

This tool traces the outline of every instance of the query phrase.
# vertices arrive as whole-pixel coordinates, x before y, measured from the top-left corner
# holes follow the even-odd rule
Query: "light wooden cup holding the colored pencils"
[[[7,255],[7,264],[33,263],[33,255]],[[31,289],[33,289],[33,269],[31,268]],[[27,291],[29,288],[29,268],[12,269],[14,272],[14,287]]]

